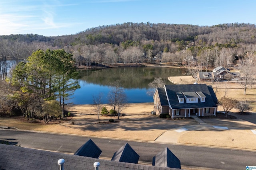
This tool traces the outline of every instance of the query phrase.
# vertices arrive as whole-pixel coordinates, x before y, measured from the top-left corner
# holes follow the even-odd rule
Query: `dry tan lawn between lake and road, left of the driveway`
[[[111,109],[110,106],[106,107],[108,110]],[[197,124],[193,119],[176,121],[161,119],[157,115],[151,114],[152,108],[152,103],[130,104],[122,111],[125,115],[121,116],[119,120],[117,117],[102,115],[100,115],[100,120],[98,120],[98,115],[92,111],[92,106],[72,105],[67,106],[66,109],[73,113],[74,116],[71,121],[74,121],[74,125],[71,121],[44,125],[24,121],[18,122],[17,119],[12,118],[1,118],[0,125],[36,131],[154,141],[162,133],[174,127]],[[97,124],[99,121],[109,121],[110,118],[120,122],[103,125]]]

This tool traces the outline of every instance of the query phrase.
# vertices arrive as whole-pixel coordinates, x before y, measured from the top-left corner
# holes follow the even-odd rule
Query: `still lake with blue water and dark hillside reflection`
[[[108,103],[109,84],[120,80],[127,96],[128,103],[153,102],[152,96],[147,95],[148,84],[154,78],[163,78],[166,84],[169,76],[186,76],[188,73],[184,68],[165,67],[125,67],[125,68],[103,68],[98,70],[79,70],[81,88],[76,90],[68,103],[92,104],[92,96],[103,94],[102,103]]]

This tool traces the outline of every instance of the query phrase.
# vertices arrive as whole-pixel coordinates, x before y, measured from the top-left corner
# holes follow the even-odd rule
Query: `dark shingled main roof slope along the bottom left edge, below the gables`
[[[62,158],[64,170],[93,170],[94,162],[100,162],[100,170],[174,170],[0,144],[1,170],[59,170],[57,162]]]

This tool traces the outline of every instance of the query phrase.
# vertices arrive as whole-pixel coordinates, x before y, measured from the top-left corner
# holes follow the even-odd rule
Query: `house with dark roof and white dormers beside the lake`
[[[214,90],[206,84],[165,85],[156,89],[153,99],[156,114],[171,118],[216,115],[218,108]]]

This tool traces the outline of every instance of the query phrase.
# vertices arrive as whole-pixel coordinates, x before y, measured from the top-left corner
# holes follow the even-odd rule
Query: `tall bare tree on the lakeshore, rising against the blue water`
[[[124,88],[121,86],[120,80],[110,83],[110,92],[108,94],[108,102],[118,114],[118,119],[121,111],[128,106],[126,101]]]

